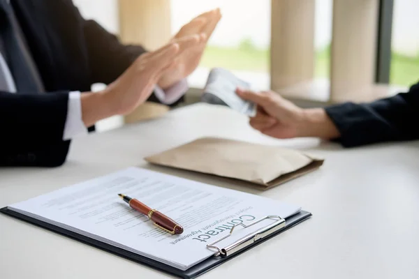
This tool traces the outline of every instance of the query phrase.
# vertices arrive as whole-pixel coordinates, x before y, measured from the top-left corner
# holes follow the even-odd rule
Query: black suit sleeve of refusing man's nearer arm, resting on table
[[[62,140],[68,92],[37,95],[0,91],[0,165],[55,167],[66,160]]]

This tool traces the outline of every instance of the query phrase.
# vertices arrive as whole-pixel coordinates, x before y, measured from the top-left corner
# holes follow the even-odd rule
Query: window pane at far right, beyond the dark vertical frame
[[[390,84],[410,86],[419,81],[419,2],[395,0],[392,23]]]

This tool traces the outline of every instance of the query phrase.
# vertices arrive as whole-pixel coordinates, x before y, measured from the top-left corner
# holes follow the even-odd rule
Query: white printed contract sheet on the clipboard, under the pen
[[[163,232],[118,193],[166,214],[184,227],[184,233]],[[287,218],[300,211],[299,206],[136,167],[8,207],[182,270],[213,255],[207,243],[228,234],[233,225],[267,215]],[[272,221],[264,222],[253,232]],[[249,230],[237,229],[228,241],[246,234]]]

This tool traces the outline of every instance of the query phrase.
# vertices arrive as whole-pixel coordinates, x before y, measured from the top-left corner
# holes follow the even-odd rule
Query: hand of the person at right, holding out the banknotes
[[[273,91],[253,92],[237,89],[237,95],[256,103],[256,116],[250,125],[270,137],[321,137],[333,139],[340,136],[335,124],[323,109],[304,110]]]

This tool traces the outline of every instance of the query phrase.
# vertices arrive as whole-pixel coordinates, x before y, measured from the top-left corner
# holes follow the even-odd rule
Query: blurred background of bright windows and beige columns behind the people
[[[298,105],[369,101],[419,80],[417,0],[73,0],[125,43],[154,49],[196,15],[223,18],[189,77],[199,100],[213,67]]]

